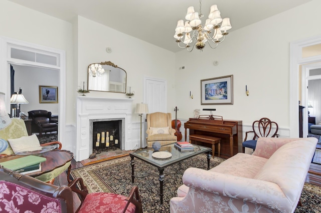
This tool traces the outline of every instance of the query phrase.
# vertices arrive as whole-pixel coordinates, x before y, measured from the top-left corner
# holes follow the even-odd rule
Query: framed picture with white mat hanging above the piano
[[[233,75],[201,80],[201,105],[233,104]]]

